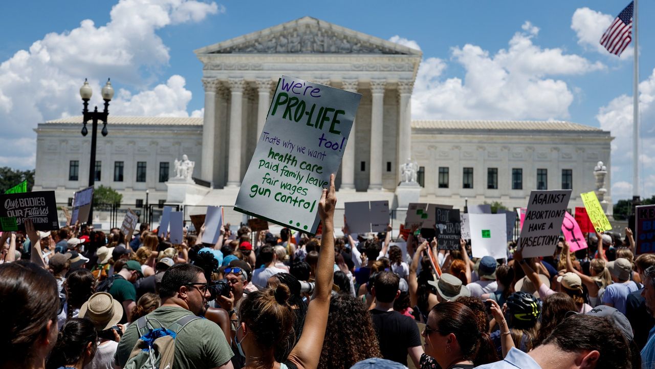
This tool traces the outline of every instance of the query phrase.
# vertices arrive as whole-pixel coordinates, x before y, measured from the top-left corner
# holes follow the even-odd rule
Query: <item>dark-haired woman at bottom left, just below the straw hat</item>
[[[46,369],[83,369],[98,349],[98,334],[91,320],[73,318],[59,331]]]

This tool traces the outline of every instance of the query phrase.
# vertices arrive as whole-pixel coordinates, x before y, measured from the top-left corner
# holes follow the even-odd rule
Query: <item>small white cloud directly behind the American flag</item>
[[[618,14],[618,12],[617,12]],[[578,45],[584,47],[586,50],[593,50],[600,54],[614,57],[610,54],[603,45],[601,45],[601,37],[605,33],[610,24],[614,21],[616,16],[610,14],[603,14],[596,10],[591,10],[587,7],[576,9],[571,18],[571,29],[576,32],[578,36]],[[626,50],[621,54],[621,59],[632,58],[633,48],[630,44]]]

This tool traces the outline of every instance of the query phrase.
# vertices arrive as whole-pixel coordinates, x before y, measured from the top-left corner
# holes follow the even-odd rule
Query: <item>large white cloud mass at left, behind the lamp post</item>
[[[183,77],[150,87],[170,58],[156,31],[219,12],[225,8],[214,2],[120,0],[103,26],[83,20],[78,28],[48,33],[28,50],[18,50],[0,63],[0,165],[33,167],[32,129],[47,119],[79,114],[85,77],[94,90],[90,106],[102,107],[106,76],[118,90],[113,114],[188,116],[191,92]],[[31,159],[16,159],[26,157]]]

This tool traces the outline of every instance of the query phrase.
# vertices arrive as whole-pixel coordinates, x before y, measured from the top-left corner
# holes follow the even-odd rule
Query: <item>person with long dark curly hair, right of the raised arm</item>
[[[373,321],[362,301],[350,294],[332,296],[318,369],[348,369],[360,360],[380,356]]]

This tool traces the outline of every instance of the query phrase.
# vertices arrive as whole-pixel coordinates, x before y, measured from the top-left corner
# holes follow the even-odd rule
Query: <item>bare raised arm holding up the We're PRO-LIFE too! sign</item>
[[[299,369],[316,369],[327,327],[329,298],[334,274],[334,208],[337,204],[334,174],[329,177],[329,190],[324,189],[318,204],[318,215],[323,222],[323,237],[316,265],[314,295],[307,307],[303,334],[289,354],[289,360]]]

